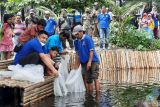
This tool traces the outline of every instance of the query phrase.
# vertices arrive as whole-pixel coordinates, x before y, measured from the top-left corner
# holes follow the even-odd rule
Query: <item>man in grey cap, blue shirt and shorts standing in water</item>
[[[74,41],[75,51],[77,55],[78,63],[75,68],[78,68],[79,64],[82,67],[82,76],[84,84],[89,92],[93,91],[93,81],[95,83],[95,89],[99,92],[99,58],[95,51],[94,42],[92,38],[84,34],[83,27],[77,25],[73,29],[73,35],[77,38]]]

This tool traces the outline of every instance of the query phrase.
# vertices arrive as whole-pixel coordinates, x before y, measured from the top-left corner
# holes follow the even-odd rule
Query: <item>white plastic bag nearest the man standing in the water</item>
[[[71,70],[65,82],[68,92],[84,92],[86,91],[82,79],[81,66],[78,69]]]

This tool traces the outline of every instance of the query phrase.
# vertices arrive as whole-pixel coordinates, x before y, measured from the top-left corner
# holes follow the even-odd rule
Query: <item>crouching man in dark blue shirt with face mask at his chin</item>
[[[48,39],[45,31],[40,31],[38,36],[24,44],[22,49],[16,54],[14,64],[22,66],[26,64],[42,64],[42,62],[52,71],[52,76],[57,77],[58,71],[53,66],[53,61],[44,54],[43,46]]]

